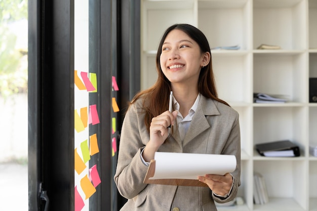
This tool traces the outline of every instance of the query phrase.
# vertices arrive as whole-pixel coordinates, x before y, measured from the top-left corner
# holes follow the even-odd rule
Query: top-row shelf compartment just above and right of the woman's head
[[[250,1],[198,1],[198,26],[211,48],[239,45],[251,49]]]

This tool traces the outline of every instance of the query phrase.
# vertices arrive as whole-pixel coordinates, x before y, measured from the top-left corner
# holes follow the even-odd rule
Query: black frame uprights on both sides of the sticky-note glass
[[[125,202],[113,184],[111,76],[121,111],[140,89],[140,0],[90,0],[99,7],[96,49],[102,185],[94,210],[116,211]],[[92,67],[92,68],[95,68]],[[90,67],[91,68],[91,67]],[[28,1],[28,189],[29,210],[74,210],[74,0]],[[99,139],[98,139],[99,142]],[[117,146],[118,146],[117,144]],[[112,162],[111,162],[112,159]],[[116,157],[114,157],[116,159]],[[45,201],[47,200],[47,201]],[[48,201],[49,200],[49,201]]]

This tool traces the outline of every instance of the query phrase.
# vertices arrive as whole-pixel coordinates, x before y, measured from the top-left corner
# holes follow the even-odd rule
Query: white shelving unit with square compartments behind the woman
[[[219,210],[317,211],[317,103],[309,103],[309,77],[317,77],[317,0],[142,0],[141,89],[156,81],[155,54],[174,23],[200,28],[213,50],[219,97],[240,114],[245,204]],[[261,44],[281,50],[257,50]],[[255,104],[253,93],[289,96],[285,104]],[[301,156],[260,156],[254,145],[289,139]],[[269,202],[253,203],[253,173],[265,178]]]

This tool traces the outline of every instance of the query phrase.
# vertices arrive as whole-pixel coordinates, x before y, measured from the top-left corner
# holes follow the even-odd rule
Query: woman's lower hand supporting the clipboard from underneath
[[[199,176],[198,180],[206,183],[208,187],[217,195],[224,196],[229,193],[232,186],[232,176],[229,173],[222,175]]]

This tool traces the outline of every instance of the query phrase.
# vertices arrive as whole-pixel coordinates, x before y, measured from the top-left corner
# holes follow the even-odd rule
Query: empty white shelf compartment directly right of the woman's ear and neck
[[[212,55],[212,65],[219,98],[231,103],[252,102],[250,98],[252,85],[250,60],[251,55]]]

